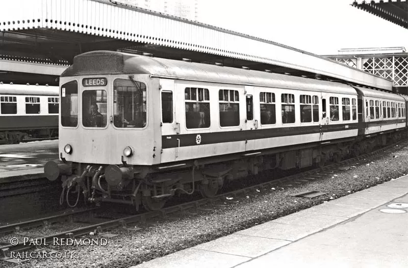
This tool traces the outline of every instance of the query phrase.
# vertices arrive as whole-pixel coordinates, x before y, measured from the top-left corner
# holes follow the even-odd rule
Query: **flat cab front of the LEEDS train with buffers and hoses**
[[[48,162],[44,173],[50,181],[62,178],[69,206],[81,192],[96,202],[130,196],[135,174],[159,161],[148,82],[146,75],[61,77],[61,161]],[[69,191],[78,193],[76,202]]]

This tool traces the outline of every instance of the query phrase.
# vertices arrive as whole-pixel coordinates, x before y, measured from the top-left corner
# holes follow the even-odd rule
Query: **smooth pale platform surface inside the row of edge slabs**
[[[236,267],[408,267],[407,217],[376,208]]]

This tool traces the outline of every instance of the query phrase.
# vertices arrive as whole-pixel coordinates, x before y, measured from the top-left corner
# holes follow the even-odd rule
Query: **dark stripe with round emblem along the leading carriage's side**
[[[321,131],[334,132],[342,130],[352,130],[358,128],[358,123],[350,124],[337,124],[337,125],[321,125]],[[244,141],[254,139],[264,139],[283,136],[296,136],[319,133],[320,126],[303,126],[303,127],[285,127],[285,128],[270,128],[270,129],[257,129],[257,130],[235,130],[235,131],[223,131],[212,133],[199,133],[200,139],[197,140],[197,133],[195,134],[179,134],[179,135],[164,135],[162,136],[162,148],[174,148],[179,146],[193,146],[201,144],[213,144],[233,141]],[[197,142],[198,141],[198,142]]]

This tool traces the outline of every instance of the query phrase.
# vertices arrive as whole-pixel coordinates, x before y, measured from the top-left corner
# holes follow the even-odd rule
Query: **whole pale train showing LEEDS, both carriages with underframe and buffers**
[[[159,210],[265,169],[359,155],[405,135],[408,98],[337,82],[94,51],[60,80],[61,177],[85,200]],[[73,203],[74,200],[76,203]]]

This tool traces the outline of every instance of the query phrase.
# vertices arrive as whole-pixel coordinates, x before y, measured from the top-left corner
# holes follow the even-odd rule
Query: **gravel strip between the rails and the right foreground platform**
[[[348,170],[288,189],[274,188],[234,198],[215,207],[176,219],[158,220],[137,231],[114,229],[119,236],[107,238],[101,246],[49,246],[47,250],[75,252],[77,259],[32,259],[21,264],[0,262],[10,267],[129,267],[175,251],[205,243],[288,214],[381,184],[408,173],[408,146],[395,146],[393,152],[371,156],[370,162],[355,161]],[[302,191],[328,193],[313,199],[292,197]],[[224,206],[223,206],[224,205]],[[135,227],[135,226],[128,226]],[[100,236],[82,237],[95,239]],[[3,240],[3,239],[2,239]]]

